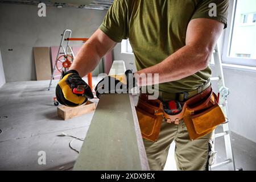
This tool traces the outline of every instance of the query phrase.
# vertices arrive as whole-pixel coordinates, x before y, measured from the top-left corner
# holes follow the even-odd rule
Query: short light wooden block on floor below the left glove
[[[86,113],[92,113],[96,109],[96,103],[87,101],[86,104],[77,107],[59,106],[57,114],[64,120],[78,117]]]

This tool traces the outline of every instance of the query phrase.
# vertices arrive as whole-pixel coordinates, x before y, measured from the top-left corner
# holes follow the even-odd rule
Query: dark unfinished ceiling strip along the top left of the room
[[[18,5],[38,5],[40,2],[46,6],[54,6],[57,8],[77,8],[77,9],[93,9],[93,10],[108,10],[114,0],[9,0],[0,1],[0,3],[18,4]]]

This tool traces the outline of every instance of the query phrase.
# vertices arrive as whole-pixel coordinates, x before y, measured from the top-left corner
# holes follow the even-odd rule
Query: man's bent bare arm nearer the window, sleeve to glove
[[[183,48],[161,63],[137,73],[159,73],[159,83],[163,83],[180,80],[207,68],[223,28],[224,24],[217,20],[206,18],[191,20],[187,28],[186,45]],[[146,80],[141,79],[138,84],[144,86],[142,83],[145,82]],[[158,84],[158,82],[155,81],[153,84]],[[150,84],[147,83],[147,85]]]

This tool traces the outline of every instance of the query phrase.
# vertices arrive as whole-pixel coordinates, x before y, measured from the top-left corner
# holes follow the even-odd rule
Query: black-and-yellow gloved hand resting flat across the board
[[[130,69],[125,72],[125,76],[126,84],[112,76],[103,78],[95,87],[96,96],[100,98],[101,94],[106,93],[129,93],[129,90],[137,86],[137,80]]]

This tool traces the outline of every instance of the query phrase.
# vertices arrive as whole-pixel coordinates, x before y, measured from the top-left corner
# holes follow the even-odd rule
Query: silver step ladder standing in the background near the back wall
[[[52,80],[54,79],[54,77],[56,76],[60,76],[60,75],[56,75],[55,76],[55,72],[56,72],[56,67],[57,67],[57,61],[58,61],[58,57],[60,55],[65,55],[65,56],[72,56],[73,59],[75,58],[75,55],[73,53],[73,50],[71,48],[71,46],[69,46],[69,42],[70,42],[70,39],[71,39],[71,35],[72,35],[72,31],[71,30],[64,30],[63,34],[61,34],[61,41],[60,41],[60,47],[59,47],[59,51],[57,53],[57,56],[56,56],[56,60],[55,60],[55,64],[54,64],[54,67],[52,68],[52,76],[51,76],[51,80],[49,82],[49,87],[48,87],[48,90],[50,90],[51,88],[51,85],[52,85]],[[64,43],[65,41],[65,43]],[[65,44],[65,45],[64,45]],[[73,60],[72,60],[73,61]],[[63,70],[64,72],[66,72],[67,70]]]

